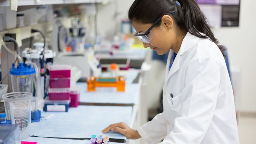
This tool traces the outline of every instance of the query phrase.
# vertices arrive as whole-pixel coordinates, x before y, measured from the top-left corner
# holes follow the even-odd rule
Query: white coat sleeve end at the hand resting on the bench
[[[167,123],[163,113],[157,114],[151,121],[142,125],[137,131],[142,139],[149,144],[155,144],[163,140],[167,135]]]

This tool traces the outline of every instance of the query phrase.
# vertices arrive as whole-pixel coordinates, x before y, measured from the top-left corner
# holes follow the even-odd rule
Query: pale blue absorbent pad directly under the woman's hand
[[[53,116],[43,122],[31,124],[31,136],[53,138],[91,138],[110,124],[125,122],[130,124],[132,107],[78,106],[66,113],[42,112],[42,116]],[[126,137],[118,132],[106,133],[112,139]]]

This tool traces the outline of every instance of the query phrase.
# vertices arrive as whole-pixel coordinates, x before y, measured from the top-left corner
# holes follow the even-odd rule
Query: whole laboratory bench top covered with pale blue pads
[[[68,112],[42,112],[42,116],[53,116],[43,122],[32,123],[27,141],[51,141],[56,143],[87,143],[93,134],[109,135],[110,144],[129,143],[126,137],[117,132],[103,134],[102,129],[110,124],[124,122],[136,129],[140,124],[140,88],[138,80],[141,71],[130,69],[122,71],[125,76],[125,92],[99,88],[87,92],[87,83],[77,82],[80,88],[80,106],[69,108]],[[137,79],[137,80],[136,80]],[[25,140],[23,140],[25,141]],[[133,143],[140,143],[134,142]]]

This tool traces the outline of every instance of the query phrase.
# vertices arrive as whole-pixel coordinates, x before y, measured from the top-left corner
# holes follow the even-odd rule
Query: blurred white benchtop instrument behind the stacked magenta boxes
[[[54,64],[70,64],[82,70],[82,78],[87,76],[100,76],[100,62],[95,58],[94,51],[85,50],[84,53],[67,52],[60,53],[55,59]]]

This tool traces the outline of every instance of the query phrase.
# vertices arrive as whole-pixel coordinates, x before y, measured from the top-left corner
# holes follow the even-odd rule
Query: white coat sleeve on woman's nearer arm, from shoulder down
[[[220,93],[220,67],[208,56],[193,58],[188,63],[184,89],[187,95],[173,130],[161,144],[200,144],[212,121]],[[190,96],[189,96],[190,95]]]

